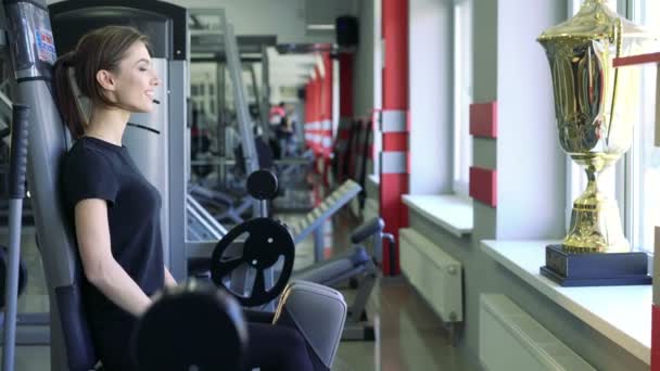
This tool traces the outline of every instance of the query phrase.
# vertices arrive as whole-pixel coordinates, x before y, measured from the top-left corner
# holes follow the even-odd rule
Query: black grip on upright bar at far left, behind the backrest
[[[12,200],[25,196],[25,170],[27,167],[27,137],[29,106],[14,104],[12,107],[12,139],[10,152],[9,197]]]

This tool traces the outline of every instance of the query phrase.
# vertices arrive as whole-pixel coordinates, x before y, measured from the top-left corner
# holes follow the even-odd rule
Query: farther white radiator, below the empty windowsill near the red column
[[[445,322],[462,321],[462,267],[410,228],[399,229],[399,264],[410,284]]]

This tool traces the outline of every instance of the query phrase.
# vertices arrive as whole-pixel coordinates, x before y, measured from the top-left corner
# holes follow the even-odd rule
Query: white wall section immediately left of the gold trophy
[[[559,148],[550,68],[536,37],[566,18],[566,2],[536,1],[532,8],[528,0],[508,0],[498,8],[497,238],[559,238],[566,155]]]

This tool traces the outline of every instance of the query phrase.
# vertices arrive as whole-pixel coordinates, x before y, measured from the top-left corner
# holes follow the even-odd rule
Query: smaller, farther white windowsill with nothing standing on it
[[[404,194],[403,202],[458,238],[472,233],[473,216],[470,199],[453,194]]]

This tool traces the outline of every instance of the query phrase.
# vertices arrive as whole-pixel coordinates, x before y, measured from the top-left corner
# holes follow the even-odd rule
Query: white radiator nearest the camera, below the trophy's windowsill
[[[479,360],[484,370],[595,370],[508,297],[481,294]]]

